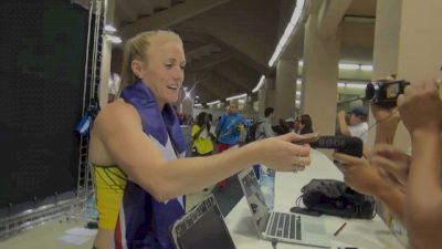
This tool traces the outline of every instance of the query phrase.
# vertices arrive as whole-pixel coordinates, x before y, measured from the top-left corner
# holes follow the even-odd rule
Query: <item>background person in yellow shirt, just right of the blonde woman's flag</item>
[[[210,132],[209,114],[201,112],[192,126],[193,156],[208,156],[213,152],[214,135]]]

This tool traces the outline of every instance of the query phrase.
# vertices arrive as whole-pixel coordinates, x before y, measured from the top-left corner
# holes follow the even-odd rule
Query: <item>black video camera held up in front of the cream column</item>
[[[394,107],[399,94],[410,82],[408,81],[375,81],[367,84],[366,100],[382,107]]]

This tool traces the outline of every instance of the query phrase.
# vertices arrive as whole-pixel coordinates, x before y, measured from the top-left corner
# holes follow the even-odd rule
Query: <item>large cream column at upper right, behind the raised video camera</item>
[[[440,79],[442,65],[442,1],[378,1],[373,48],[373,79],[398,72],[411,83]],[[370,123],[375,123],[370,117]],[[375,128],[369,133],[373,142]],[[409,149],[410,136],[400,123],[394,146]]]

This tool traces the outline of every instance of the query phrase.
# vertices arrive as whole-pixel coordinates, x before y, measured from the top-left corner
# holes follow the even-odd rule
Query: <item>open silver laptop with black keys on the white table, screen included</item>
[[[322,218],[271,211],[253,169],[245,169],[238,177],[262,239],[330,248]]]

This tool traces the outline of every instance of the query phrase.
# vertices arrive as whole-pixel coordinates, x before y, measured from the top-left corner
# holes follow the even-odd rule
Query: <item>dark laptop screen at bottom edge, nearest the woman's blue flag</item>
[[[235,249],[213,195],[173,227],[179,249]]]

